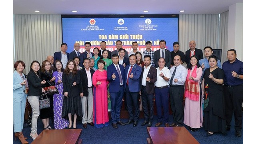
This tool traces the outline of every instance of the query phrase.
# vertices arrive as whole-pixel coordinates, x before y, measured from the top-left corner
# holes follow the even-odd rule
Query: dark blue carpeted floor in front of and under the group
[[[123,122],[128,121],[128,119],[122,119]],[[104,128],[94,128],[90,125],[85,129],[82,127],[82,122],[77,122],[77,128],[82,129],[82,134],[80,138],[82,138],[83,144],[146,144],[146,138],[148,138],[146,126],[140,126],[140,124],[144,121],[143,118],[140,118],[138,121],[138,126],[133,127],[132,124],[121,126],[118,125],[118,129],[114,129],[111,125]],[[172,115],[170,115],[170,124],[172,123]],[[156,116],[154,116],[153,125],[156,124]],[[52,123],[50,122],[52,126]],[[161,126],[164,126],[162,124]],[[185,126],[185,125],[184,125]],[[53,126],[52,126],[53,127]],[[188,126],[185,126],[188,129]],[[38,119],[38,134],[40,134],[43,130],[42,121]],[[28,137],[28,142],[31,143],[33,140],[30,139],[30,131],[31,127],[24,128],[23,133],[25,137]],[[191,132],[188,130],[194,138],[200,144],[242,144],[243,143],[243,129],[241,131],[242,136],[237,138],[235,136],[234,130],[234,118],[231,123],[231,130],[228,131],[226,135],[221,133],[214,134],[212,136],[206,136],[206,132],[203,128],[196,132]],[[13,144],[20,144],[18,140],[14,140],[13,136]]]

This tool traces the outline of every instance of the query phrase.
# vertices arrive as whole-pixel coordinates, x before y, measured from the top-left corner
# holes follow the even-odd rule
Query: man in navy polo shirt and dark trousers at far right
[[[242,129],[242,102],[243,102],[243,74],[244,64],[236,58],[236,50],[227,52],[228,61],[222,64],[224,70],[224,98],[227,130],[230,130],[230,122],[234,112],[236,137],[241,136]]]

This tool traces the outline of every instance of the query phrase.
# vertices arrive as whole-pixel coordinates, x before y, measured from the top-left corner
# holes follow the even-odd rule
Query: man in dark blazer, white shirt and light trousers
[[[93,124],[93,93],[92,93],[92,75],[94,73],[93,69],[90,69],[90,59],[85,58],[83,60],[84,68],[80,71],[81,81],[83,87],[83,94],[81,94],[82,102],[82,124],[84,128],[87,128],[87,123],[91,126]],[[88,112],[87,112],[88,111]]]

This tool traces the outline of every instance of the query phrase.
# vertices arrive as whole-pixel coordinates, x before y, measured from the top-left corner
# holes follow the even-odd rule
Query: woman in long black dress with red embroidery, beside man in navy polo
[[[204,130],[211,136],[214,132],[226,133],[226,119],[223,93],[224,72],[218,68],[218,58],[214,55],[209,57],[210,68],[204,71]]]

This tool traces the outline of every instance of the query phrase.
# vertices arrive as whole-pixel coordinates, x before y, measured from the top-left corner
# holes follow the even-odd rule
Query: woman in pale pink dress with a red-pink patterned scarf
[[[184,124],[189,126],[189,130],[193,132],[201,128],[203,123],[202,84],[200,82],[202,73],[197,56],[191,56],[185,82]]]

